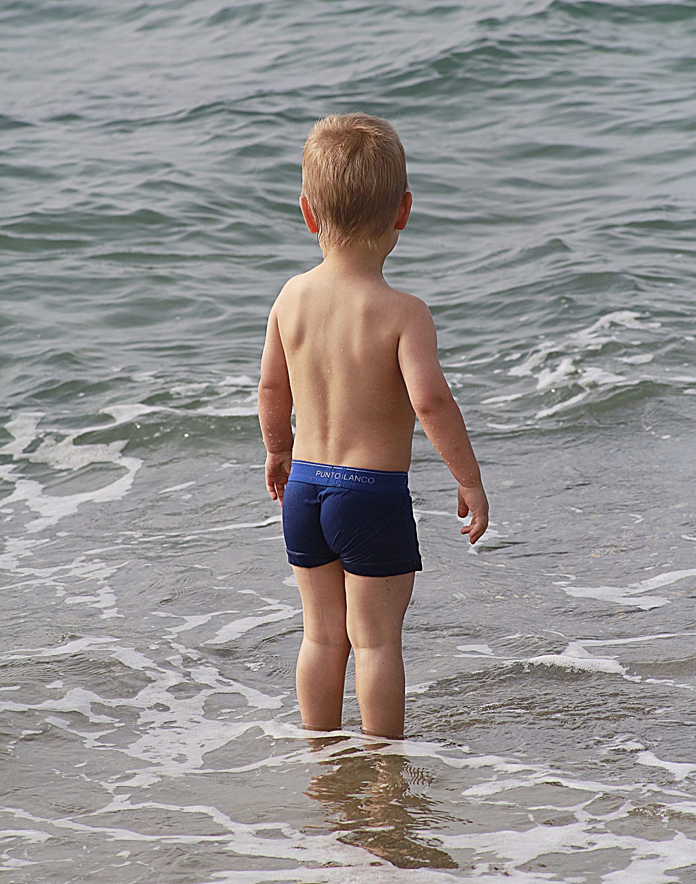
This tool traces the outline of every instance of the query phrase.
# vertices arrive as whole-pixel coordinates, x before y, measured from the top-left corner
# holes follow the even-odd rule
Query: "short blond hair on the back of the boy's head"
[[[302,193],[332,246],[374,246],[408,190],[404,147],[385,119],[332,115],[312,127],[302,154]]]

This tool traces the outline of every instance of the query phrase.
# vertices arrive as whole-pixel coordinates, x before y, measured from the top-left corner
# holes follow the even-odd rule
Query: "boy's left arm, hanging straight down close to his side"
[[[266,344],[261,357],[259,423],[266,456],[266,487],[272,499],[283,506],[285,484],[292,461],[292,392],[283,342],[278,330],[276,307],[270,311]]]

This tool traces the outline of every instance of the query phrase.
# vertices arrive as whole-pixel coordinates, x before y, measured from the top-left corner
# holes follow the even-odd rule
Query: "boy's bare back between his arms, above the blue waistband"
[[[414,413],[398,362],[418,299],[320,265],[284,287],[278,331],[295,408],[293,457],[407,470]]]

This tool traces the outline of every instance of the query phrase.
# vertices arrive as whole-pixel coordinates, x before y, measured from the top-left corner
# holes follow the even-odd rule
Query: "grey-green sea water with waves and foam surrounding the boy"
[[[696,4],[0,3],[0,869],[696,881]],[[406,739],[299,729],[255,390],[316,118],[395,122],[421,431]],[[318,332],[318,333],[321,333]]]

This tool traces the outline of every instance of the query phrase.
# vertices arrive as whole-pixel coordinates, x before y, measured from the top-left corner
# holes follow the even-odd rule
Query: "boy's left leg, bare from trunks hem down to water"
[[[345,630],[344,569],[340,561],[292,570],[302,597],[305,635],[299,649],[297,690],[302,723],[311,730],[341,727],[345,664],[351,644]]]

